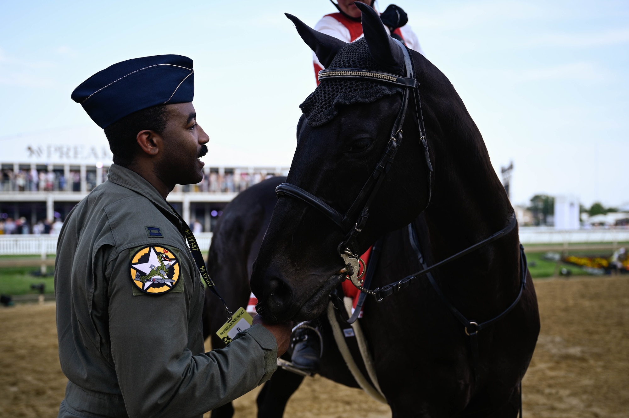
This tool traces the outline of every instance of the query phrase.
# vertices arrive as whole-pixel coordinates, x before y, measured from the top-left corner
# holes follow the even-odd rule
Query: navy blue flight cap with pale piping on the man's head
[[[192,102],[193,98],[192,60],[181,55],[119,62],[87,78],[72,92],[72,100],[103,129],[138,110]]]

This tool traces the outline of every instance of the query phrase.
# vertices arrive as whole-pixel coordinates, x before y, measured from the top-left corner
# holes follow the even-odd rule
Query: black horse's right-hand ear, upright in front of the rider
[[[389,36],[377,12],[360,1],[354,2],[362,12],[362,33],[367,40],[369,53],[382,68],[395,72],[404,62],[398,43]]]

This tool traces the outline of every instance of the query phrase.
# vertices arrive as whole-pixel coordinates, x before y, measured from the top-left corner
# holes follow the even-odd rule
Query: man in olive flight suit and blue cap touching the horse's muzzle
[[[192,60],[136,58],[72,93],[105,131],[114,164],[64,222],[55,265],[59,417],[200,417],[264,383],[291,328],[254,325],[204,353],[204,286],[187,225],[166,197],[203,178],[207,134]],[[191,236],[191,235],[190,235]]]

